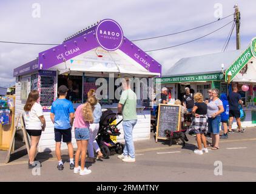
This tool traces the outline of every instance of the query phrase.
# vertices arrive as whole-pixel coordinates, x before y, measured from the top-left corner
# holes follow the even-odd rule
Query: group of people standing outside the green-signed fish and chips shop
[[[198,155],[208,153],[207,146],[211,146],[211,150],[218,150],[220,139],[227,139],[228,133],[234,133],[232,130],[234,117],[237,121],[238,132],[244,132],[241,128],[239,108],[239,105],[243,105],[243,101],[237,93],[237,87],[232,87],[232,93],[229,96],[225,93],[220,95],[218,89],[210,89],[208,90],[209,98],[206,99],[201,93],[190,93],[188,87],[185,88],[185,92],[182,103],[177,99],[175,104],[181,105],[181,129],[186,129],[184,125],[186,122],[189,134],[196,136],[198,149],[194,150],[194,153]],[[161,96],[158,96],[159,103],[167,104],[166,93],[167,89],[164,87]],[[220,125],[224,129],[221,136]],[[207,145],[206,138],[212,139],[211,144]]]

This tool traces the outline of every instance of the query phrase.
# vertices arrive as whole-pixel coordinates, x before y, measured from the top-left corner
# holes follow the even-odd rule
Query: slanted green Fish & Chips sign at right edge
[[[228,76],[231,76],[230,81],[235,78],[237,73],[243,69],[243,67],[250,61],[252,56],[256,57],[256,38],[252,39],[251,45],[246,49],[242,55],[226,70],[225,80]]]

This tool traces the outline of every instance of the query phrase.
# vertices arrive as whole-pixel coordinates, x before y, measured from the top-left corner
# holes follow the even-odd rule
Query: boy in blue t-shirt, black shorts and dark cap
[[[64,169],[61,159],[61,140],[67,143],[70,158],[70,169],[73,170],[75,167],[73,158],[73,146],[71,142],[71,130],[74,121],[75,110],[73,108],[72,102],[66,99],[67,90],[69,89],[67,89],[66,85],[59,86],[59,98],[53,102],[50,112],[50,118],[54,124],[56,142],[55,153],[59,161],[58,170]]]

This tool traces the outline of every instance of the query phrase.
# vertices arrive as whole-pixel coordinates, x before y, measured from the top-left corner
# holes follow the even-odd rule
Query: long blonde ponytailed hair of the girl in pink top
[[[93,107],[98,103],[95,96],[92,96],[88,99],[88,101],[84,104],[83,107],[83,116],[84,121],[93,122]]]

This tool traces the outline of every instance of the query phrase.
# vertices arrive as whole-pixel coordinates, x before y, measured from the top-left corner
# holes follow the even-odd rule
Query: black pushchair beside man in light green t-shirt
[[[112,110],[106,110],[103,112],[101,116],[101,120],[99,121],[99,132],[96,138],[96,141],[103,153],[103,158],[109,158],[110,152],[115,151],[118,154],[123,153],[124,145],[120,142],[113,142],[110,139],[111,136],[119,136],[121,133],[119,132],[117,125],[120,124],[119,121],[116,125],[111,125],[113,121],[116,120],[116,113],[113,113]]]

